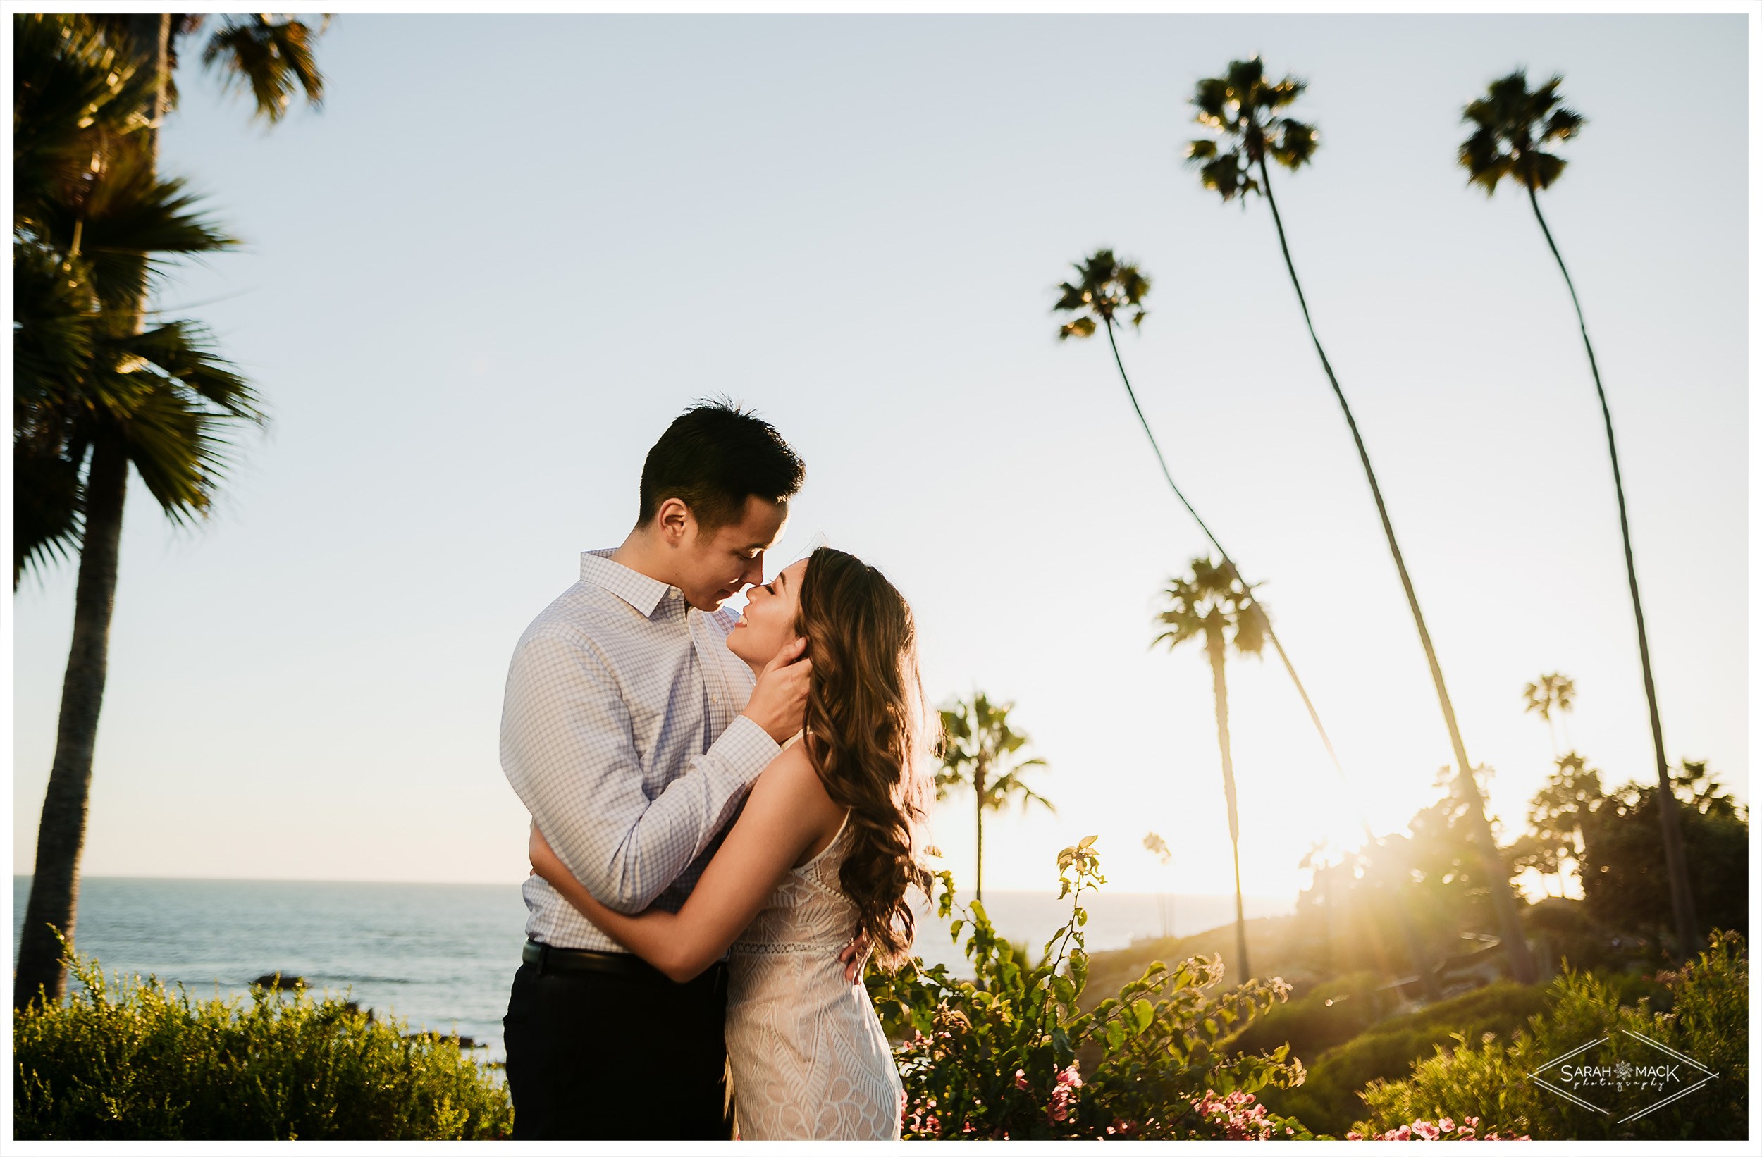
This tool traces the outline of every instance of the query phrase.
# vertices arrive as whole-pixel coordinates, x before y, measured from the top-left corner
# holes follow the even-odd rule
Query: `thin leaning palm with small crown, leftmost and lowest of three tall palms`
[[[1144,437],[1151,442],[1151,453],[1156,454],[1156,465],[1163,470],[1163,481],[1168,483],[1168,490],[1173,491],[1175,500],[1186,507],[1188,514],[1193,516],[1195,525],[1205,539],[1216,548],[1218,556],[1226,567],[1240,569],[1230,558],[1230,551],[1223,548],[1212,528],[1205,525],[1200,512],[1193,509],[1188,497],[1181,493],[1181,486],[1175,484],[1173,474],[1168,470],[1168,460],[1163,458],[1163,447],[1156,440],[1156,433],[1151,430],[1149,419],[1144,416],[1144,407],[1138,405],[1138,393],[1131,387],[1131,377],[1126,373],[1126,363],[1119,354],[1119,342],[1114,338],[1114,319],[1115,315],[1131,313],[1131,326],[1136,329],[1144,324],[1149,312],[1144,308],[1144,298],[1151,292],[1151,278],[1144,273],[1136,262],[1119,261],[1114,257],[1114,250],[1101,248],[1091,257],[1071,266],[1077,269],[1075,282],[1059,284],[1059,299],[1052,306],[1054,313],[1075,313],[1075,317],[1062,326],[1059,326],[1059,340],[1068,338],[1089,338],[1094,336],[1098,329],[1107,333],[1108,349],[1114,352],[1114,366],[1119,370],[1119,380],[1126,387],[1126,400],[1131,402],[1133,414],[1138,416],[1138,426],[1144,430]],[[1256,583],[1244,583],[1242,592],[1253,602],[1253,588]],[[1322,747],[1327,750],[1329,761],[1334,764],[1334,775],[1339,777],[1341,784],[1353,789],[1351,780],[1346,777],[1346,768],[1341,764],[1339,755],[1334,752],[1334,741],[1329,740],[1327,727],[1322,726],[1322,713],[1316,711],[1314,703],[1309,699],[1309,690],[1304,687],[1302,678],[1297,674],[1297,664],[1284,650],[1284,643],[1279,641],[1277,630],[1272,629],[1272,618],[1263,615],[1267,630],[1267,641],[1272,643],[1272,650],[1279,655],[1279,662],[1284,664],[1284,674],[1292,680],[1292,687],[1297,689],[1297,697],[1302,699],[1304,710],[1309,713],[1309,722],[1314,726],[1316,734],[1322,738]],[[1376,836],[1371,833],[1371,822],[1364,815],[1364,808],[1359,808],[1359,824],[1364,828],[1364,838],[1367,845],[1376,844]],[[1401,933],[1408,946],[1408,954],[1413,960],[1413,969],[1418,972],[1427,999],[1438,1000],[1443,993],[1438,988],[1438,977],[1427,963],[1427,953],[1420,940],[1418,928],[1413,925],[1413,916],[1406,903],[1396,905],[1397,919],[1401,923]],[[1373,935],[1376,928],[1373,925]],[[1380,946],[1378,946],[1380,951]]]

